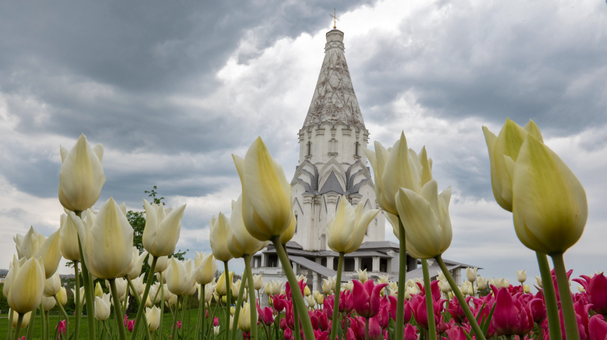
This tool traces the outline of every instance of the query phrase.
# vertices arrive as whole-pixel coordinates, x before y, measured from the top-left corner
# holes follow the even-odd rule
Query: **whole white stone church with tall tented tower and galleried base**
[[[352,87],[344,54],[344,32],[334,28],[326,36],[325,59],[299,130],[299,165],[291,181],[297,227],[287,244],[295,274],[306,276],[313,290],[322,290],[322,279],[337,275],[339,254],[327,247],[325,225],[335,215],[342,195],[354,207],[363,204],[364,210],[380,208],[363,152],[369,132]],[[251,262],[253,274],[263,274],[264,281],[284,279],[271,244],[253,256]],[[431,262],[428,260],[430,276],[436,277],[440,268]],[[445,264],[458,284],[462,267],[472,267],[450,260],[445,260]],[[359,250],[346,254],[342,282],[358,277],[359,269],[366,269],[370,279],[389,275],[397,280],[399,244],[385,241],[383,211],[368,226]],[[407,279],[421,277],[418,260],[407,255]]]

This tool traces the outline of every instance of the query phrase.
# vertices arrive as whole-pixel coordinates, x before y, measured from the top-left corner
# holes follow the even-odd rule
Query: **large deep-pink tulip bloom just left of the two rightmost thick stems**
[[[510,296],[507,289],[501,288],[498,291],[495,303],[491,325],[499,334],[523,336],[533,329],[529,307]]]

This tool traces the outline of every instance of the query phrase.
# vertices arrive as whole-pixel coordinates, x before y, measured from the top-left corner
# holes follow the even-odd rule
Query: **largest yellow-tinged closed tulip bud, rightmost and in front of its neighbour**
[[[554,151],[528,134],[515,166],[514,221],[525,246],[563,253],[579,240],[588,218],[586,191]]]

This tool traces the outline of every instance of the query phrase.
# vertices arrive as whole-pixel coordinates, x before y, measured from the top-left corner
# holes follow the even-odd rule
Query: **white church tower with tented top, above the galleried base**
[[[291,182],[297,230],[292,241],[303,250],[327,248],[325,225],[342,195],[364,210],[379,208],[363,147],[369,132],[344,54],[344,32],[327,32],[325,58],[306,120],[299,130],[299,165]],[[385,217],[380,213],[364,241],[383,241]]]

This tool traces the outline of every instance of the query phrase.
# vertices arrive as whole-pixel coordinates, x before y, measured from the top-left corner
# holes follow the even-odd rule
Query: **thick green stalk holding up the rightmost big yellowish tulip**
[[[573,301],[571,299],[571,291],[569,290],[569,279],[567,279],[563,253],[553,254],[551,258],[554,264],[554,271],[556,272],[558,294],[560,295],[560,310],[563,312],[563,321],[565,322],[565,336],[567,340],[579,340],[577,319],[575,310],[573,310]]]

